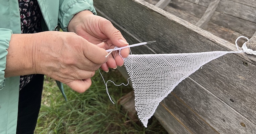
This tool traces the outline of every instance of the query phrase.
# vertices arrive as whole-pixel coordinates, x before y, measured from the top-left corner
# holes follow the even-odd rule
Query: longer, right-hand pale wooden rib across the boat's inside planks
[[[203,16],[195,24],[196,26],[203,28],[210,21],[211,17],[213,16],[213,13],[215,12],[215,10],[218,6],[219,1],[220,0],[211,0],[209,6],[207,7]]]

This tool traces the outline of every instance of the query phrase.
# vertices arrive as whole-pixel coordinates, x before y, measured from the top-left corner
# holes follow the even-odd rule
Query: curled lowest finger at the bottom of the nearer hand
[[[91,86],[91,79],[83,79],[83,80],[74,80],[67,84],[74,91],[83,93]]]

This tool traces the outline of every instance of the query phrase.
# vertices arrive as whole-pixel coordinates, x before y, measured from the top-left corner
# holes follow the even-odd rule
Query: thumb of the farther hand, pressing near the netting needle
[[[101,19],[99,21],[99,28],[115,46],[124,47],[128,45],[121,32],[116,29],[109,20]]]

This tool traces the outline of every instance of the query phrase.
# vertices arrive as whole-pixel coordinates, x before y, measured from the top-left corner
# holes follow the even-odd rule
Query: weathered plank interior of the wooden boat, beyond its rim
[[[235,43],[256,35],[255,0],[145,0],[213,35]],[[241,40],[239,43],[242,45]]]

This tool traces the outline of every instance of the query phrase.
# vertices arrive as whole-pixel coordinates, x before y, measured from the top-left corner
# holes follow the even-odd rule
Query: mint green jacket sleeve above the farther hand
[[[93,0],[60,0],[58,23],[63,31],[67,31],[69,21],[73,16],[83,10],[97,14],[93,7]]]

